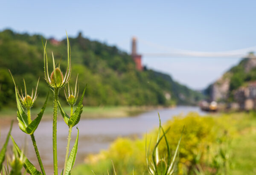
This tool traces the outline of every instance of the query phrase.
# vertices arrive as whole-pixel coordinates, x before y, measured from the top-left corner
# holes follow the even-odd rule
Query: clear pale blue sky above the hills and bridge
[[[67,30],[131,51],[138,40],[143,65],[200,90],[236,65],[241,56],[149,56],[189,51],[233,51],[256,46],[254,0],[43,0],[0,1],[0,30],[43,34],[61,40]],[[247,53],[244,53],[244,56]]]

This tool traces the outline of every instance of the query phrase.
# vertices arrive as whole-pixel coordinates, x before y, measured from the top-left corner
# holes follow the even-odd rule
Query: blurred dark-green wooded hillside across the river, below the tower
[[[35,85],[38,77],[38,99],[35,107],[41,107],[48,93],[48,85],[44,81],[44,49],[41,35],[17,34],[11,30],[0,32],[0,107],[12,106],[15,100],[14,85],[8,69],[12,72],[18,87],[23,87],[23,78],[29,85]],[[47,42],[47,54],[52,51],[56,62],[60,62],[61,70],[65,70],[67,57],[65,43]],[[70,82],[74,85],[77,73],[80,89],[86,84],[83,104],[90,106],[141,106],[141,105],[173,105],[194,104],[201,99],[201,94],[175,82],[169,75],[145,69],[139,72],[127,53],[115,46],[90,41],[81,34],[70,38],[72,52],[72,69]],[[52,65],[49,66],[52,70]],[[31,87],[27,87],[31,91]],[[63,90],[63,89],[62,89]],[[166,99],[166,94],[171,99]],[[49,97],[52,98],[52,97]],[[60,93],[60,100],[65,100]],[[51,100],[52,101],[52,100]]]

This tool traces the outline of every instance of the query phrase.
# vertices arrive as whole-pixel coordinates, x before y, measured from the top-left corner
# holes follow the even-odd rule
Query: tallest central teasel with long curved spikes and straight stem
[[[67,34],[67,32],[66,32]],[[43,41],[42,41],[43,43]],[[58,68],[55,68],[54,56],[52,53],[52,65],[53,71],[49,75],[48,71],[48,56],[46,51],[47,41],[44,47],[44,76],[46,82],[49,84],[51,90],[54,94],[53,100],[53,120],[52,120],[52,147],[53,147],[53,167],[54,167],[54,175],[58,175],[58,160],[57,160],[57,113],[58,113],[58,93],[61,88],[63,88],[70,80],[71,76],[71,49],[70,42],[67,37],[67,70],[65,76],[61,72],[60,65]]]

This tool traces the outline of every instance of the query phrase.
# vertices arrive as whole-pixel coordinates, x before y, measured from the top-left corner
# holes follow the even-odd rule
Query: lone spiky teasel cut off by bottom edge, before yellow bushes
[[[169,132],[170,128],[168,128],[166,131],[163,130],[159,113],[158,113],[158,117],[159,117],[159,128],[158,128],[157,142],[156,142],[153,152],[152,152],[151,161],[149,160],[150,144],[147,149],[147,138],[145,141],[145,143],[146,143],[145,154],[146,154],[146,164],[147,164],[148,174],[149,175],[173,175],[175,173],[175,170],[177,167],[177,162],[178,162],[177,159],[178,159],[178,154],[179,154],[180,141],[182,138],[184,127],[182,130],[180,139],[178,141],[175,153],[172,157],[169,143],[168,143],[167,137],[166,137],[166,134]],[[161,131],[162,131],[163,135],[160,136]],[[165,158],[161,158],[160,154],[159,154],[159,144],[163,138],[165,140],[165,145],[166,145],[166,149],[167,149],[167,157],[165,157]]]

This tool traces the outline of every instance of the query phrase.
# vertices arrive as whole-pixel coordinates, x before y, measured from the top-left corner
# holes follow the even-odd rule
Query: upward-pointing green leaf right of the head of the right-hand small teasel
[[[83,99],[84,99],[84,92],[85,92],[86,88],[84,88],[83,94],[81,96],[81,99],[79,101],[79,104],[76,107],[75,113],[73,113],[73,115],[70,117],[69,121],[68,121],[68,126],[69,127],[74,127],[76,124],[78,124],[80,118],[81,118],[81,113],[83,112]]]

